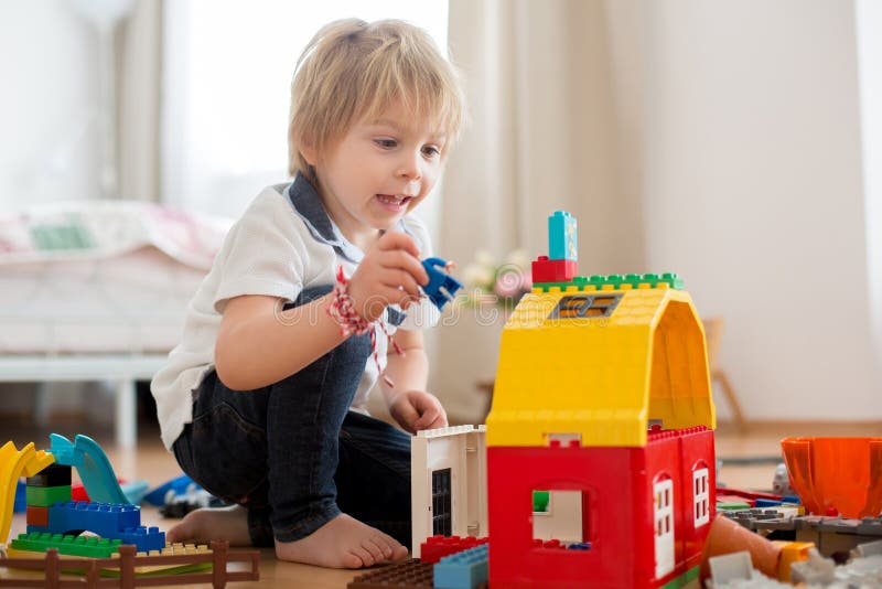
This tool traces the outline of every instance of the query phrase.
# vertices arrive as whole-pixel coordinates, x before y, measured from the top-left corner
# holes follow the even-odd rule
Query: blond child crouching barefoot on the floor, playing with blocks
[[[230,229],[152,383],[166,448],[237,504],[191,513],[170,542],[275,545],[337,568],[407,556],[410,440],[364,407],[388,331],[402,349],[385,365],[394,386],[380,383],[391,416],[411,433],[447,426],[416,330],[431,322],[429,237],[407,213],[462,116],[453,68],[419,29],[342,20],[306,46],[291,89],[295,178]]]

